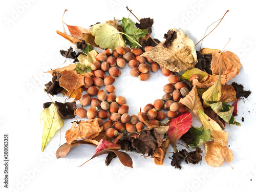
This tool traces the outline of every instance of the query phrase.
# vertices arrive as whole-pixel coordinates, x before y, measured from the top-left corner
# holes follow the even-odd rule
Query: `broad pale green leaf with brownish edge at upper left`
[[[103,24],[96,24],[89,28],[89,31],[95,36],[95,43],[101,49],[112,49],[116,47],[125,47],[126,44],[122,37],[122,31],[117,21],[109,20]]]

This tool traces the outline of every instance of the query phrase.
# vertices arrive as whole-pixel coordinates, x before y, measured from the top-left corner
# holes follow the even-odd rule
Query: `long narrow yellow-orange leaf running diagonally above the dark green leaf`
[[[198,115],[204,126],[204,129],[210,130],[210,134],[214,138],[214,141],[218,142],[222,146],[226,146],[228,143],[228,133],[223,131],[216,121],[209,118],[200,109],[198,109]]]

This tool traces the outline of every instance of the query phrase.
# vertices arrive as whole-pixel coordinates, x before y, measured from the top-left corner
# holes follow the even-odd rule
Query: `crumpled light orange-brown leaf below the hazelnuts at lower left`
[[[65,138],[67,143],[71,144],[76,139],[94,139],[101,131],[97,118],[88,121],[82,120],[73,122],[71,129],[66,132]]]

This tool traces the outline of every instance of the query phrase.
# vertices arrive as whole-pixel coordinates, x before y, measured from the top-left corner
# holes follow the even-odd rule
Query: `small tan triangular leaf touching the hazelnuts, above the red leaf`
[[[186,105],[196,115],[198,115],[197,109],[204,111],[196,86],[192,88],[192,90],[180,101],[180,103]]]

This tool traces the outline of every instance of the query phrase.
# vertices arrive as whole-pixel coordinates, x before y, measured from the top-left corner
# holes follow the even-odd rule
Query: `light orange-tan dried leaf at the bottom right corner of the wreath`
[[[231,162],[233,154],[231,150],[217,142],[208,141],[205,143],[205,161],[212,167],[222,166],[223,162]]]

